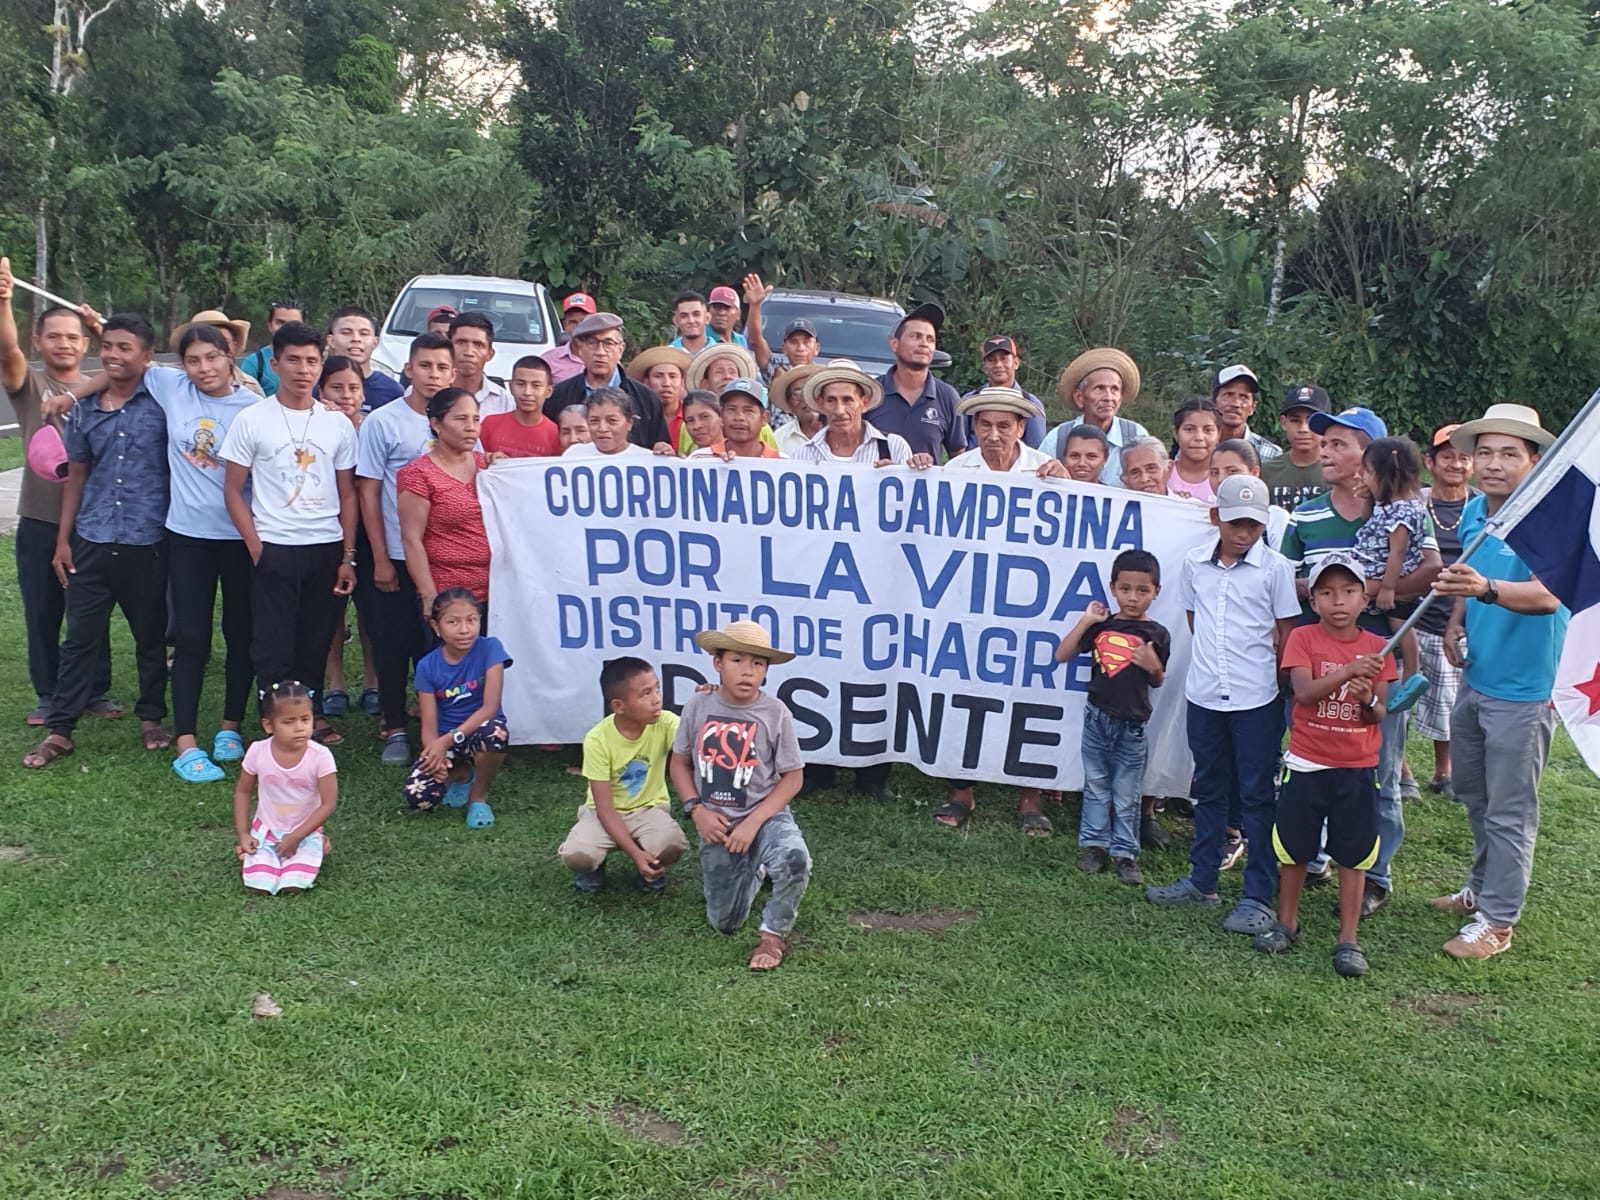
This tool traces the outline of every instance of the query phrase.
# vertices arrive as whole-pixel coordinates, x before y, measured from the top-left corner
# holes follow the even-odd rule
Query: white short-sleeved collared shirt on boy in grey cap
[[[1221,539],[1184,555],[1181,595],[1194,613],[1184,694],[1213,712],[1246,712],[1278,696],[1272,630],[1301,614],[1294,568],[1266,539],[1232,566],[1218,562]]]

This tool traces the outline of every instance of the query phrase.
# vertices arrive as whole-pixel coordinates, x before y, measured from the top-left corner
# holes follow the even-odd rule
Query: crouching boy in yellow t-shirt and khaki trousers
[[[578,891],[605,886],[605,859],[613,850],[634,861],[645,891],[659,891],[667,885],[667,867],[690,848],[672,819],[667,792],[678,717],[661,710],[661,680],[642,658],[610,659],[600,669],[600,693],[610,714],[584,734],[589,797],[555,853],[574,872]]]

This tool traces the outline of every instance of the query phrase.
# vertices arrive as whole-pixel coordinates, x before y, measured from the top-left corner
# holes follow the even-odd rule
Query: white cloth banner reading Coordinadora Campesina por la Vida
[[[578,742],[605,715],[600,667],[634,654],[682,709],[712,674],[694,634],[762,622],[798,654],[766,690],[808,762],[904,762],[933,776],[1077,790],[1086,656],[1056,664],[1110,565],[1162,563],[1171,630],[1146,794],[1187,795],[1184,554],[1192,501],[1034,475],[800,469],[747,459],[504,459],[478,475],[490,629],[514,742]]]

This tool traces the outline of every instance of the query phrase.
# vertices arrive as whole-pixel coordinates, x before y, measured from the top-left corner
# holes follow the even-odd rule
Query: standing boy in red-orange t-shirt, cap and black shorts
[[[1355,942],[1366,869],[1378,859],[1378,749],[1384,704],[1379,685],[1395,678],[1384,642],[1355,624],[1366,605],[1360,563],[1328,555],[1310,573],[1310,606],[1320,621],[1294,629],[1283,643],[1283,669],[1294,690],[1290,752],[1272,826],[1278,862],[1278,920],[1254,947],[1282,954],[1299,941],[1299,898],[1306,864],[1317,858],[1323,821],[1328,856],[1339,864],[1339,942],[1333,970],[1366,974]]]

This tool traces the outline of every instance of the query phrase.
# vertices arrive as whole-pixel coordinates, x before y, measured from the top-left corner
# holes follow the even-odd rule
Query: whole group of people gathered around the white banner
[[[1435,750],[1429,787],[1464,803],[1475,840],[1467,885],[1435,901],[1472,918],[1445,949],[1477,958],[1509,946],[1531,872],[1565,611],[1494,538],[1470,563],[1454,560],[1552,440],[1538,413],[1494,405],[1419,451],[1370,410],[1336,411],[1325,389],[1304,384],[1283,397],[1280,448],[1251,427],[1258,376],[1232,365],[1216,371],[1210,395],[1174,408],[1168,442],[1122,416],[1139,392],[1133,358],[1096,347],[1061,373],[1070,419],[1051,429],[1043,403],[1018,386],[1019,349],[1006,334],[984,339],[987,382],[963,397],[930,371],[938,306],[901,318],[888,339],[893,366],[872,376],[827,358],[805,320],[771,347],[766,291],[744,280],[742,331],[731,288],[683,293],[672,306],[677,336],[626,365],[622,320],[574,293],[563,302],[570,339],[518,360],[507,381],[485,374],[494,325],[480,312],[430,314],[395,379],[373,363],[370,314],[339,309],[323,330],[293,301],[274,306],[269,347],[243,362],[248,326],[197,314],[179,331],[178,368],[154,365],[141,317],[48,309],[32,336],[42,366],[30,370],[0,259],[0,378],[30,464],[16,536],[38,698],[29,722],[45,730],[24,765],[72,754],[85,715],[120,715],[109,699],[109,622],[120,608],[136,646],[142,746],[174,746],[184,782],[219,781],[222,763],[243,760],[245,882],[301,890],[315,880],[334,803],[328,747],[342,738],[330,717],[352,707],[349,624],[363,661],[354,707],[376,717],[382,762],[410,765],[408,803],[462,806],[472,827],[493,822],[512,662],[488,634],[477,475],[498,459],[1027,472],[1182,498],[1206,506],[1216,528],[1179,579],[1194,635],[1181,685],[1197,762],[1192,869],[1149,888],[1152,902],[1218,904],[1219,872],[1248,853],[1245,894],[1224,928],[1282,950],[1298,938],[1302,885],[1331,880],[1333,862],[1334,965],[1365,971],[1357,925],[1392,893],[1403,798],[1419,794],[1403,758],[1416,706]],[[101,371],[86,378],[91,336]],[[1086,654],[1093,672],[1080,867],[1128,883],[1142,882],[1141,845],[1168,838],[1155,798],[1141,797],[1149,688],[1165,685],[1171,648],[1147,614],[1160,587],[1157,560],[1123,554],[1109,589],[1117,610],[1093,605],[1058,651],[1061,661]],[[200,699],[218,594],[224,696],[206,747]],[[1397,666],[1386,642],[1430,595],[1414,637],[1395,637]],[[792,718],[762,691],[768,666],[789,658],[765,630],[730,627],[701,645],[720,682],[682,718],[662,712],[651,664],[608,664],[608,712],[582,754],[589,797],[560,856],[582,891],[602,886],[613,850],[646,886],[659,885],[686,851],[670,784],[701,838],[717,928],[738,928],[762,880],[773,882],[750,963],[765,970],[782,960],[810,877],[789,802],[803,784],[829,786],[834,771],[800,762]],[[246,750],[251,690],[269,736]],[[859,768],[856,787],[883,795],[888,770]],[[971,784],[952,781],[934,818],[960,827],[973,806]],[[1029,835],[1053,832],[1034,789],[1022,790],[1018,819]]]

